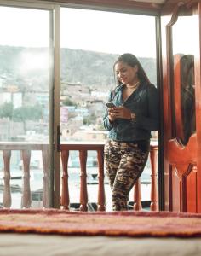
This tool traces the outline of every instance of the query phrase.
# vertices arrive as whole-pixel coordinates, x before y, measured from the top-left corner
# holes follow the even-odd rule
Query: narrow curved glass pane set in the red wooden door
[[[193,16],[179,16],[172,27],[174,76],[178,77],[174,84],[175,131],[176,137],[184,145],[196,130],[194,79],[194,55],[195,50],[198,49],[196,24]]]

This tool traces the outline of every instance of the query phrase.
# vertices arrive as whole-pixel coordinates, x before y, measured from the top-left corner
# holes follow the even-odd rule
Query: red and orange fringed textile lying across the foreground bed
[[[201,237],[201,214],[2,209],[0,232],[81,236]]]

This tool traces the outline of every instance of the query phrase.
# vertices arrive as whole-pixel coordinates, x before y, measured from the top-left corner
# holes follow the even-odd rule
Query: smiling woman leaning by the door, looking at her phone
[[[114,63],[118,85],[110,94],[115,106],[106,109],[104,127],[106,173],[113,211],[128,209],[129,191],[146,166],[151,131],[158,131],[158,90],[149,82],[135,55],[123,54]]]

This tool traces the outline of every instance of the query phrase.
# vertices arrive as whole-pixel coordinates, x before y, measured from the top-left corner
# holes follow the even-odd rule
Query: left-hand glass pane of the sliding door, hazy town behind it
[[[42,147],[49,146],[49,10],[0,7],[0,144],[11,148],[12,206],[20,207],[24,147],[31,150],[32,207],[42,206]],[[3,148],[4,147],[4,148]],[[3,184],[3,150],[0,151]],[[28,160],[27,160],[28,162]],[[0,191],[3,202],[3,191]]]

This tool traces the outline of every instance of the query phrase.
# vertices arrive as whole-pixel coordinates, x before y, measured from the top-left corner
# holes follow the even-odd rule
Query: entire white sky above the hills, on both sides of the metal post
[[[154,20],[144,15],[61,8],[60,46],[153,57]],[[0,7],[0,32],[1,45],[49,46],[49,11]]]

